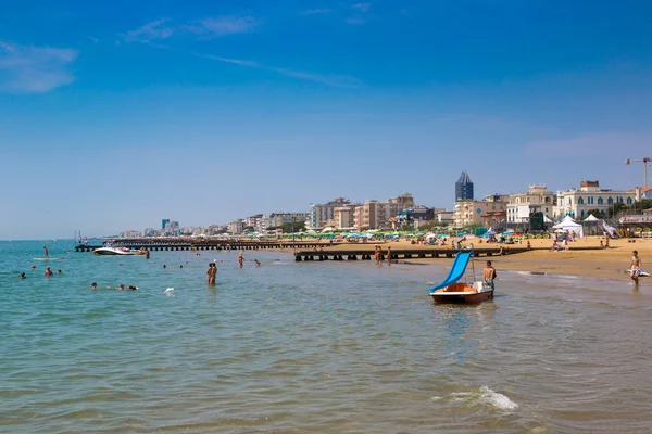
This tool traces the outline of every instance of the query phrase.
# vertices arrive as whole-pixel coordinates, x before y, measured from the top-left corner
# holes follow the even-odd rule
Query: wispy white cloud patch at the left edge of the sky
[[[41,93],[70,85],[75,80],[70,65],[77,55],[73,49],[0,41],[0,91]]]

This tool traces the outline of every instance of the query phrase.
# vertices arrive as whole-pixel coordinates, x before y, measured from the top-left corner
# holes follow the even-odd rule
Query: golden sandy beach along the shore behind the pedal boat
[[[649,261],[652,260],[652,241],[644,239],[630,240],[610,240],[609,248],[603,250],[581,250],[581,247],[600,246],[600,241],[604,242],[602,237],[586,237],[584,239],[570,242],[567,251],[552,252],[552,240],[530,240],[532,250],[530,252],[518,253],[505,256],[492,257],[493,266],[498,270],[509,271],[534,271],[551,275],[570,275],[570,276],[591,276],[600,278],[627,279],[626,268],[629,266],[632,251],[638,251],[642,261],[642,269],[652,269],[649,267]],[[478,244],[479,239],[473,239],[468,242],[463,242],[462,245],[468,245],[471,242],[476,246],[486,246],[487,244]],[[324,250],[374,250],[376,243],[342,243],[333,247],[325,246]],[[411,244],[410,241],[399,240],[379,243],[384,250],[391,246],[393,250],[399,248],[428,248],[423,244]],[[490,244],[497,246],[498,244]],[[525,245],[515,244],[515,246]],[[485,257],[476,258],[484,264],[487,260]],[[402,263],[410,264],[449,264],[451,259],[444,258],[412,258],[399,259]],[[641,280],[644,284],[645,279]]]

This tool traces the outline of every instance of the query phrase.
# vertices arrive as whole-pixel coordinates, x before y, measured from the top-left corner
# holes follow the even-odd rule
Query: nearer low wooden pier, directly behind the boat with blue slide
[[[481,247],[474,250],[474,256],[499,256],[512,255],[515,253],[527,252],[527,247]],[[446,247],[428,247],[428,248],[392,248],[391,259],[414,259],[414,258],[453,258],[457,254],[456,250]],[[301,251],[294,253],[294,260],[372,260],[375,259],[373,250],[336,250],[329,248],[326,251]],[[387,250],[380,254],[385,260]]]

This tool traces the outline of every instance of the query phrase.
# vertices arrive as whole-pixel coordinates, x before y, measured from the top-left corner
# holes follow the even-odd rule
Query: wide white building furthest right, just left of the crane
[[[635,201],[636,191],[603,190],[600,188],[599,181],[581,181],[579,190],[557,191],[557,203],[553,217],[555,220],[562,220],[565,216],[586,218],[591,209],[606,214],[609,207],[614,203],[631,206]]]

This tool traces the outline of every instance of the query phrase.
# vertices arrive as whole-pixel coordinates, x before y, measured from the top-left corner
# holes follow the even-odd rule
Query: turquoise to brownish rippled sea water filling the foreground
[[[0,432],[652,432],[645,281],[497,261],[494,301],[438,306],[444,264],[199,253],[0,242]]]

